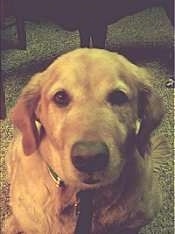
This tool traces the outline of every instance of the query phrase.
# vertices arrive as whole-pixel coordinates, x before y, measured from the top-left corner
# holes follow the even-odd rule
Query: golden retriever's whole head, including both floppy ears
[[[79,49],[60,57],[32,79],[13,110],[24,152],[33,153],[41,141],[44,160],[66,183],[81,188],[117,180],[140,144],[145,153],[162,116],[145,74],[105,50]]]

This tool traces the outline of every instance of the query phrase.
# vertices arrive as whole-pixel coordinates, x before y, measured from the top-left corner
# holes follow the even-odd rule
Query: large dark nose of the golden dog
[[[79,141],[72,147],[71,158],[79,171],[92,173],[107,166],[109,150],[104,142]]]

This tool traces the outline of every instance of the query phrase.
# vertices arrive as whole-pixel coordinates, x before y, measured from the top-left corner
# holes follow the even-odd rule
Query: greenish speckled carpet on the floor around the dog
[[[21,88],[31,75],[47,66],[52,59],[79,46],[77,32],[63,31],[45,22],[27,22],[27,50],[2,51],[1,64],[6,92],[7,112],[14,105]],[[16,37],[15,26],[2,32],[3,38]],[[133,61],[146,66],[153,74],[152,82],[165,104],[165,119],[158,129],[169,141],[171,157],[160,171],[164,192],[163,207],[155,220],[140,232],[142,234],[173,234],[173,90],[165,88],[172,75],[171,55],[173,29],[161,8],[148,9],[126,17],[108,30],[107,48],[124,53]],[[9,119],[1,121],[0,147],[0,220],[9,213],[6,185],[5,154],[13,135]],[[1,233],[1,232],[0,232]]]

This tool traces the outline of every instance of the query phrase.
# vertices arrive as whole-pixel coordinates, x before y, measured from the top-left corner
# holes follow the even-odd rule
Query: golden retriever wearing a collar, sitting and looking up
[[[159,211],[163,117],[144,68],[76,49],[25,86],[7,156],[6,234],[136,234]]]

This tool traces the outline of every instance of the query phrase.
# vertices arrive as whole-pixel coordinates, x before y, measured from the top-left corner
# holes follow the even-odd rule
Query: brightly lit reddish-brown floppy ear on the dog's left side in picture
[[[35,110],[40,98],[42,73],[34,75],[24,87],[16,105],[11,111],[11,120],[22,133],[23,150],[26,155],[32,154],[39,144],[39,133],[36,126]]]

